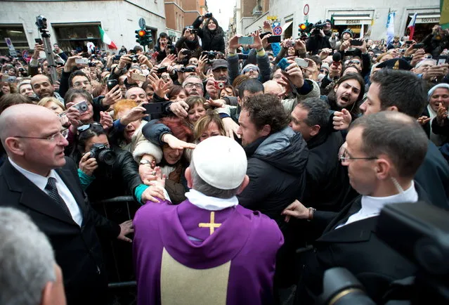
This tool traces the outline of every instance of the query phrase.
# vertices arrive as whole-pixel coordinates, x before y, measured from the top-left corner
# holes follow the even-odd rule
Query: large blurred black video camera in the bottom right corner
[[[449,304],[449,212],[426,202],[386,205],[376,234],[389,247],[417,266],[415,279],[395,282],[386,305]],[[410,282],[410,283],[409,283]],[[325,271],[318,304],[375,304],[362,284],[345,268]],[[410,303],[409,303],[410,302]]]

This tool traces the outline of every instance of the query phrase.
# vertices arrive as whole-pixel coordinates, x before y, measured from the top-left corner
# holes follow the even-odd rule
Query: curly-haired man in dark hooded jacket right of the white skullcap
[[[289,126],[289,115],[277,96],[259,94],[242,103],[237,134],[248,157],[249,184],[240,205],[274,219],[285,243],[278,252],[275,294],[294,284],[294,232],[281,216],[282,210],[304,192],[308,149],[301,134]]]

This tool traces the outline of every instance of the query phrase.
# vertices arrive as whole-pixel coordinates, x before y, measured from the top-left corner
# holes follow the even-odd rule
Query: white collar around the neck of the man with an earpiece
[[[386,197],[371,197],[362,196],[362,209],[364,214],[379,214],[382,207],[389,205],[390,203],[399,202],[417,202],[418,193],[415,189],[415,183],[412,181],[410,188],[405,190],[403,193],[396,195],[386,196]]]

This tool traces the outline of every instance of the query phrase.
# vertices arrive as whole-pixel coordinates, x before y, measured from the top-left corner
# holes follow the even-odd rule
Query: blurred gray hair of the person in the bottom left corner
[[[46,283],[56,280],[55,256],[30,216],[0,207],[0,304],[40,304]]]

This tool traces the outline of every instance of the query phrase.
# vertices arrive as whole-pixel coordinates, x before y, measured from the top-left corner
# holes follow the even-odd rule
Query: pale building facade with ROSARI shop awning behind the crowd
[[[256,0],[250,0],[251,5]],[[260,2],[263,0],[259,1]],[[268,0],[266,0],[268,1]],[[240,2],[240,4],[239,4]],[[237,0],[237,6],[245,11],[247,1]],[[308,14],[304,15],[304,7],[308,5]],[[374,40],[386,38],[386,22],[389,12],[395,12],[395,34],[403,37],[408,34],[407,25],[412,15],[417,13],[414,38],[420,40],[431,32],[431,28],[438,24],[440,18],[440,1],[429,0],[398,0],[398,1],[310,1],[310,0],[269,0],[268,11],[252,16],[242,13],[239,20],[235,20],[235,27],[240,27],[240,34],[249,34],[258,30],[263,21],[269,16],[278,18],[282,26],[282,36],[297,38],[299,24],[308,20],[315,23],[325,19],[334,20],[334,32],[343,32],[350,28],[358,37],[360,32],[368,34]],[[263,7],[263,6],[262,6]],[[307,10],[306,10],[307,11]]]

